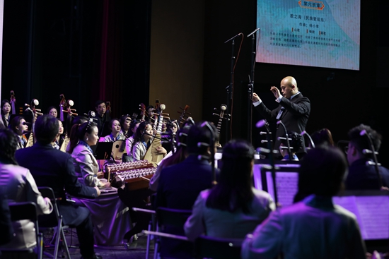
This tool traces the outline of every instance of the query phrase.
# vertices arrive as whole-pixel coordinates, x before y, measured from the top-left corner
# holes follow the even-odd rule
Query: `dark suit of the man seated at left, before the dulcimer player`
[[[38,187],[49,186],[57,198],[62,198],[59,212],[63,216],[64,224],[76,227],[81,255],[84,258],[93,256],[93,225],[89,210],[67,203],[65,191],[70,195],[85,198],[96,197],[97,191],[79,183],[74,174],[71,155],[54,149],[50,144],[35,143],[32,147],[18,150],[15,157],[18,164],[30,170]]]

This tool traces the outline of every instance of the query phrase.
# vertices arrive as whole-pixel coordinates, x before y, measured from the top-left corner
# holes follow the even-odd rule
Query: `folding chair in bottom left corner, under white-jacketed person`
[[[42,259],[42,234],[39,233],[39,226],[37,220],[37,207],[32,202],[9,203],[9,210],[11,212],[11,221],[18,221],[22,219],[29,219],[35,225],[36,246],[31,248],[1,248],[1,253],[36,253],[38,259]]]

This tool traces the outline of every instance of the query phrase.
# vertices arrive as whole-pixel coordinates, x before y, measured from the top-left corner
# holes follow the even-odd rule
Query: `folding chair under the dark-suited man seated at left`
[[[54,255],[53,258],[57,259],[58,250],[59,250],[59,241],[62,239],[62,243],[66,250],[66,255],[68,258],[70,257],[69,248],[66,243],[66,237],[64,234],[64,226],[62,226],[62,215],[59,214],[58,206],[57,206],[57,198],[55,198],[54,191],[50,187],[39,187],[40,193],[42,193],[43,197],[50,198],[53,205],[53,211],[49,215],[40,215],[38,217],[38,221],[42,230],[52,229],[57,227],[57,234],[55,235],[55,244],[54,244]]]

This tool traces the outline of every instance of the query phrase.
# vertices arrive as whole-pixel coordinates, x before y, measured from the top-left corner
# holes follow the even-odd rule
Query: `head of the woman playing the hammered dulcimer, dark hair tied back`
[[[98,143],[98,127],[95,123],[87,121],[83,124],[75,124],[71,128],[70,147],[69,153],[71,154],[79,144],[79,141],[83,141],[89,146],[96,145]]]

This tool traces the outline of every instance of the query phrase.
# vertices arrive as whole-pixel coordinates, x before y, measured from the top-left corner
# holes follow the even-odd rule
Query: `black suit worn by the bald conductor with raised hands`
[[[279,119],[277,119],[277,115],[279,114],[279,111],[282,107],[284,107],[284,111],[282,112]],[[298,95],[294,96],[290,101],[285,97],[282,97],[281,101],[279,102],[279,107],[272,111],[267,109],[263,102],[261,102],[257,107],[255,107],[255,109],[257,109],[257,111],[260,112],[260,114],[264,116],[267,121],[281,120],[286,127],[286,131],[294,131],[296,133],[301,133],[302,131],[305,131],[306,124],[308,122],[308,117],[310,114],[310,101],[307,97],[303,97],[303,95],[299,93]],[[274,149],[278,149],[281,143],[281,141],[278,140],[278,137],[284,136],[284,128],[278,125]],[[302,150],[298,150],[297,152],[306,152],[305,145],[303,145]]]

